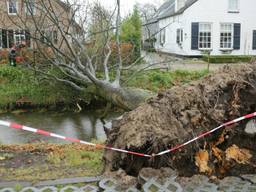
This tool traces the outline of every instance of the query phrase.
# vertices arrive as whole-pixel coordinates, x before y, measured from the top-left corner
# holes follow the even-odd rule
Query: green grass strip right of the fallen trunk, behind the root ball
[[[188,71],[161,71],[150,70],[138,74],[128,82],[128,86],[159,92],[171,88],[174,85],[182,85],[198,80],[208,74],[207,70]]]

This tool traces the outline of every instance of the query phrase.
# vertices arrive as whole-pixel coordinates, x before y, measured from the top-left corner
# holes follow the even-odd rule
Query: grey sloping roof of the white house
[[[175,0],[168,0],[163,5],[161,5],[161,7],[157,10],[154,17],[151,20],[149,20],[147,24],[155,23],[161,19],[182,14],[187,8],[189,8],[197,1],[198,0],[187,0],[185,6],[175,12]]]

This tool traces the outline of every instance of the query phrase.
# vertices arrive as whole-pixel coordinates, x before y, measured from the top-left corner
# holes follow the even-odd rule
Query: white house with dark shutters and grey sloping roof
[[[168,0],[144,31],[159,52],[256,55],[256,0]]]

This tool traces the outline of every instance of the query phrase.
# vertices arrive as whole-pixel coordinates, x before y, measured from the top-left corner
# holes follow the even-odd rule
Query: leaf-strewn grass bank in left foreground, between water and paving
[[[102,150],[85,145],[1,145],[0,181],[38,182],[100,175],[102,154]]]

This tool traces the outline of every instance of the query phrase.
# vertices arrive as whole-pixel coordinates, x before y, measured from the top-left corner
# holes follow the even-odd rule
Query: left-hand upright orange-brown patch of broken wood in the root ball
[[[200,150],[196,153],[195,160],[200,173],[212,173],[212,169],[208,166],[209,153],[206,150]]]

